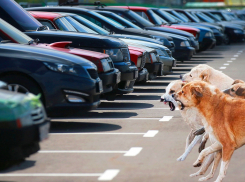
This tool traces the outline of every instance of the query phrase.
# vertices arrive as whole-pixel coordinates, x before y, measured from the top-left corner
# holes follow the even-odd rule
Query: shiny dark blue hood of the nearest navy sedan
[[[0,44],[0,55],[4,57],[62,63],[68,65],[79,64],[81,66],[92,66],[96,68],[96,66],[92,62],[84,58],[63,53],[60,51],[38,48],[29,45],[21,45],[14,43]]]

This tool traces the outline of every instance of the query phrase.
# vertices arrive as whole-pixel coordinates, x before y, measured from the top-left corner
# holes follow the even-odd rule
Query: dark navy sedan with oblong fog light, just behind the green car
[[[0,79],[22,93],[41,93],[49,116],[98,107],[102,81],[90,61],[60,51],[0,43]]]

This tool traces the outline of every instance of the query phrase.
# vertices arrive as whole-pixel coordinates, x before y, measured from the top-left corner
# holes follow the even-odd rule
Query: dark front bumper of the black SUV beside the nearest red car
[[[135,65],[125,62],[114,62],[114,66],[121,72],[121,82],[118,83],[117,94],[128,94],[133,92],[135,80],[138,78],[138,69]]]

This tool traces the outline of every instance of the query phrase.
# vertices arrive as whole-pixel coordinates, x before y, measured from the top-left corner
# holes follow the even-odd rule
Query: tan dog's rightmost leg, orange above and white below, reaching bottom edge
[[[223,146],[223,150],[222,150],[222,162],[221,162],[221,167],[220,167],[220,172],[219,172],[219,176],[216,179],[215,182],[222,182],[222,180],[224,179],[225,175],[226,175],[226,171],[231,159],[231,156],[233,154],[235,150],[235,147],[226,147]]]

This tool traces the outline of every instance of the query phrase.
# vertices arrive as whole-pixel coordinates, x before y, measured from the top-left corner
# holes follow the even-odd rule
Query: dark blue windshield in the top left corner
[[[0,17],[21,31],[36,31],[42,26],[13,0],[0,0]]]

